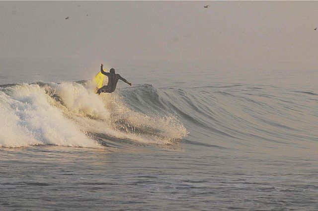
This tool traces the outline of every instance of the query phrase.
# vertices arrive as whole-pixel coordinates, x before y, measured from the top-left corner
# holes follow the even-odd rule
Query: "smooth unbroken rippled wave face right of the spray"
[[[318,98],[314,92],[228,84],[194,87],[178,94],[182,121],[186,127],[194,127],[190,134],[200,137],[200,142],[263,150],[279,149],[282,144],[311,147],[318,141]],[[170,105],[179,100],[171,98]]]

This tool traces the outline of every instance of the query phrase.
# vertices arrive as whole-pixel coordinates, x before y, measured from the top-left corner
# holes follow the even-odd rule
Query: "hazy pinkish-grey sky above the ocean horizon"
[[[0,1],[0,56],[317,63],[317,8],[318,1]]]

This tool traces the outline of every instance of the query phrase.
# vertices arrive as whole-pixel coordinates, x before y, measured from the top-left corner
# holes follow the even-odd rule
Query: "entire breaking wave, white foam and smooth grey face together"
[[[267,85],[95,94],[92,81],[0,85],[0,146],[103,147],[120,142],[249,150],[314,146],[317,93]],[[188,130],[190,133],[188,133]],[[188,135],[189,134],[189,135]]]

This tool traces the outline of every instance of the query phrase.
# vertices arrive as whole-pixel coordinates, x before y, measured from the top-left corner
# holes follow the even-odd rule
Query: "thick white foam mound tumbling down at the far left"
[[[0,145],[7,147],[53,144],[61,146],[100,147],[87,138],[73,121],[49,103],[49,96],[38,85],[22,84],[7,87],[1,93]],[[3,99],[4,98],[4,99]],[[10,110],[8,109],[8,106]],[[6,123],[7,122],[7,123]]]

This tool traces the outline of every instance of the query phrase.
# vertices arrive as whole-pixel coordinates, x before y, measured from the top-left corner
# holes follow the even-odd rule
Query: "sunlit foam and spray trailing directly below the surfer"
[[[69,116],[83,130],[103,133],[119,139],[156,144],[166,144],[187,135],[186,129],[175,116],[148,116],[133,111],[126,106],[124,99],[116,93],[96,95],[93,91],[89,91],[93,90],[89,83],[85,87],[76,83],[61,84],[55,87],[57,94],[62,97],[66,106],[70,107],[70,112],[74,112],[69,114]],[[74,97],[69,96],[72,95],[72,92],[70,93],[71,90],[80,94],[76,94],[74,99]],[[79,109],[82,107],[79,104],[81,104],[83,99],[90,100],[88,101],[89,103],[85,104],[85,109]],[[92,113],[90,115],[94,119],[86,118],[85,116],[91,109],[93,109],[94,115]],[[79,110],[83,111],[83,115],[75,115],[80,113]],[[106,114],[107,117],[103,117]],[[124,125],[118,124],[118,122],[124,122]],[[136,128],[144,129],[145,133],[135,133],[134,129]],[[149,134],[149,131],[147,131],[149,129],[155,130],[157,133]]]

